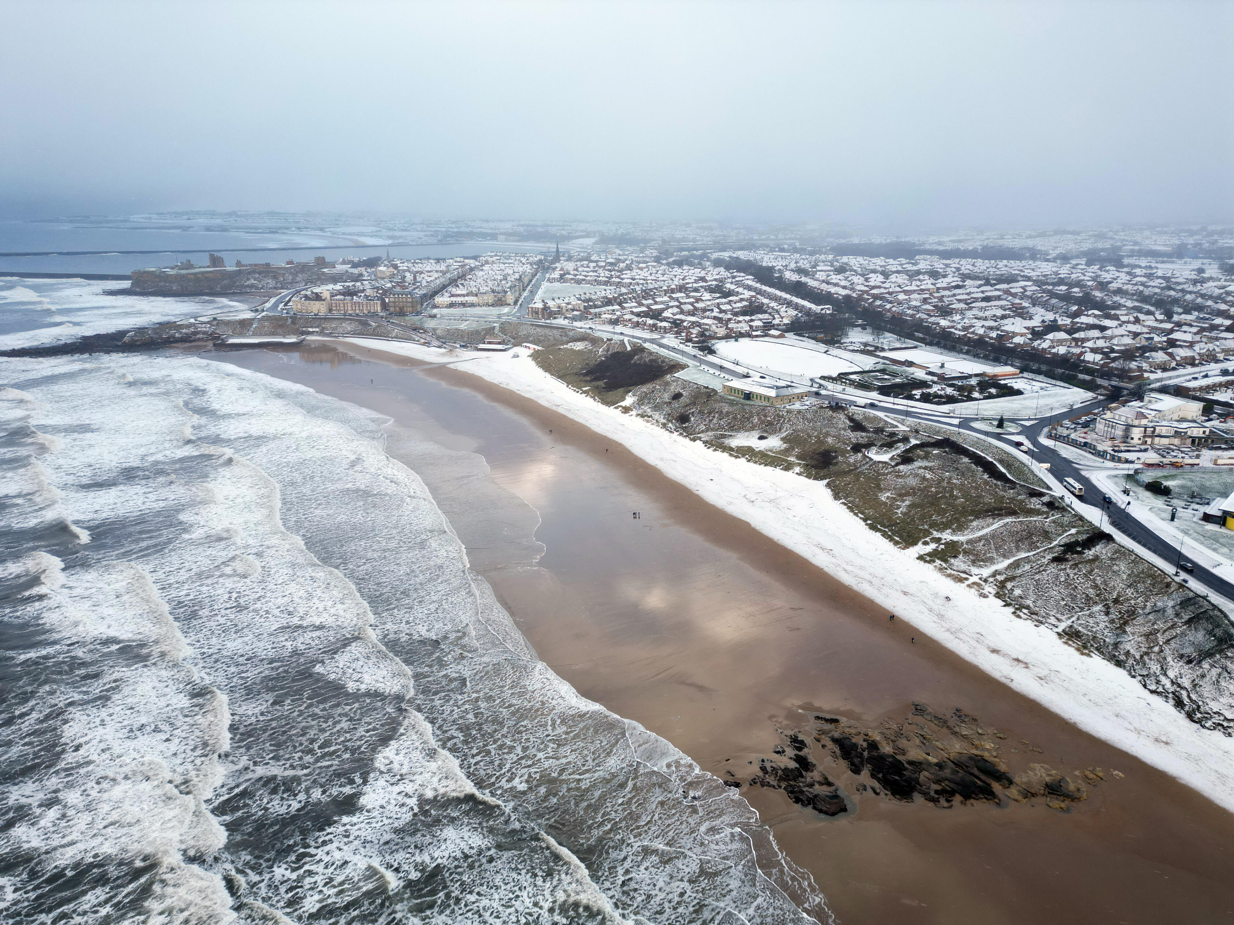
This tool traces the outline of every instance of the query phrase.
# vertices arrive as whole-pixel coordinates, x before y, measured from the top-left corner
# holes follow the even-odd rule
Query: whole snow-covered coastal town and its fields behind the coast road
[[[534,337],[527,343],[527,324],[575,329],[684,363],[677,375],[737,403],[954,418],[1034,465],[1051,446],[1054,465],[1075,476],[1060,482],[1067,491],[1079,479],[1109,498],[1103,467],[1134,475],[1140,522],[1164,540],[1177,539],[1192,520],[1208,532],[1234,525],[1220,508],[1230,492],[1217,486],[1234,472],[1228,234],[1070,234],[1032,244],[1004,234],[739,249],[726,249],[716,236],[681,234],[671,244],[669,236],[636,243],[628,234],[622,243],[622,234],[607,237],[613,243],[574,237],[564,248],[555,240],[531,253],[416,259],[387,250],[289,260],[300,285],[273,297],[247,333],[281,324],[288,339],[321,332],[326,319],[352,326],[366,318],[386,323],[370,334],[491,353],[540,349]],[[209,268],[135,273],[135,286],[152,274],[176,280],[284,271],[226,266],[211,257]],[[234,345],[259,339],[227,338]],[[1034,424],[1043,416],[1051,416],[1044,430]],[[1154,475],[1162,470],[1203,482],[1203,492],[1188,483],[1181,513],[1144,495],[1146,483],[1181,477]],[[1124,488],[1129,498],[1134,492]],[[1204,529],[1191,529],[1198,545],[1188,557],[1224,575],[1224,540],[1206,545],[1212,536]]]

